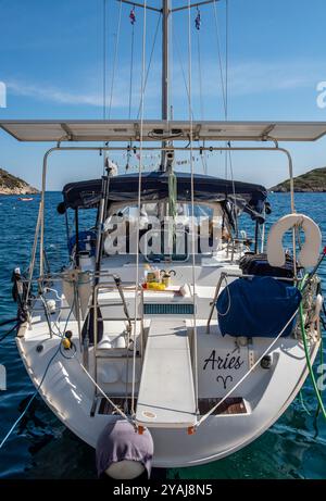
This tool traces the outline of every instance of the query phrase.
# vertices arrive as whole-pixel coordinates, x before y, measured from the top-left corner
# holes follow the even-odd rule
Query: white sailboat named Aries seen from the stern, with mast
[[[161,118],[0,123],[20,141],[53,143],[29,268],[14,275],[17,349],[43,401],[96,448],[99,475],[114,478],[201,465],[246,447],[313,377],[321,346],[321,231],[296,212],[292,159],[280,143],[315,141],[326,123],[195,121],[191,112],[189,121],[170,120],[170,0],[159,11]],[[74,215],[70,262],[51,273],[48,160],[64,151],[100,152],[104,173],[64,186],[58,217],[68,226]],[[137,154],[138,172],[120,174],[110,160],[116,151]],[[153,151],[160,167],[143,172]],[[267,238],[263,186],[195,173],[195,154],[221,151],[286,158],[289,213]],[[180,153],[190,166],[183,173]],[[87,211],[95,220],[80,230]],[[246,217],[252,239],[240,227]]]

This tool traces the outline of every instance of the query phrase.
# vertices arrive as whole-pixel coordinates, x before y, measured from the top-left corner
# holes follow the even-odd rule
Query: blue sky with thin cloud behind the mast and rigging
[[[187,0],[174,0],[178,7]],[[316,104],[316,86],[326,80],[325,0],[228,0],[229,2],[229,120],[326,121]],[[159,5],[160,0],[148,0]],[[223,120],[220,66],[212,5],[201,8],[199,33],[203,112],[206,120]],[[225,0],[216,2],[222,58],[225,54]],[[8,107],[0,118],[101,118],[103,79],[103,0],[0,0],[0,80],[8,88]],[[110,100],[118,2],[106,0],[106,66]],[[130,7],[122,7],[112,118],[128,117],[130,64]],[[142,12],[136,8],[135,63],[131,117],[139,105]],[[198,33],[191,13],[192,107],[200,118]],[[158,22],[147,16],[147,60]],[[183,80],[187,73],[186,13],[173,17],[171,95],[175,118],[187,118]],[[145,98],[146,117],[160,116],[159,33]],[[178,58],[178,53],[180,58]],[[0,133],[0,166],[39,186],[42,152],[47,145],[17,143]],[[291,145],[294,172],[325,166],[326,140]],[[125,160],[115,160],[123,166]],[[209,173],[222,176],[221,155],[210,158]],[[271,186],[287,176],[281,156],[235,154],[235,177]],[[200,168],[200,165],[198,165]],[[92,154],[61,153],[50,164],[49,189],[64,183],[98,176],[101,161]],[[123,172],[123,170],[122,170]]]

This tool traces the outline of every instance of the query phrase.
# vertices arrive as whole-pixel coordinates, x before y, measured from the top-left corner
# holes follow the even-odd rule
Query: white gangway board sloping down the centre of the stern
[[[187,428],[196,423],[196,400],[185,321],[152,321],[137,402],[139,425]]]

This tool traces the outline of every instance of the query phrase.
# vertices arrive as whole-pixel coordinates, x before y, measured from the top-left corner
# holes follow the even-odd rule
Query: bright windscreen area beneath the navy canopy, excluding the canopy
[[[193,214],[192,214],[193,213]],[[172,214],[168,200],[140,205],[113,203],[104,223],[104,254],[136,254],[147,261],[187,261],[195,252],[214,253],[230,234],[220,203],[176,202]],[[193,242],[191,240],[195,240]]]

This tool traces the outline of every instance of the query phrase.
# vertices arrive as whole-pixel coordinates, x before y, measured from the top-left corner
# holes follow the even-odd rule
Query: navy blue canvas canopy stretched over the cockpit
[[[191,200],[191,175],[175,173],[177,178],[177,200]],[[138,174],[127,174],[110,178],[109,200],[111,202],[136,202],[138,200]],[[221,202],[226,211],[235,204],[247,212],[253,220],[263,221],[267,191],[263,186],[250,183],[218,179],[212,176],[196,174],[195,201]],[[101,179],[70,183],[63,188],[63,209],[90,209],[99,204],[101,198]],[[168,197],[168,174],[160,172],[143,173],[141,176],[141,201],[155,201]]]

